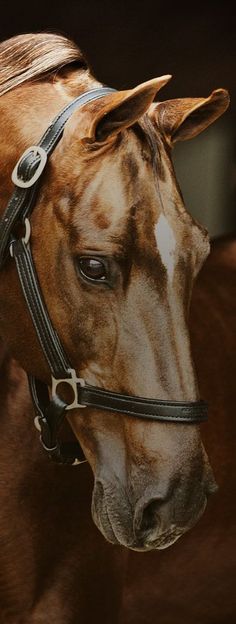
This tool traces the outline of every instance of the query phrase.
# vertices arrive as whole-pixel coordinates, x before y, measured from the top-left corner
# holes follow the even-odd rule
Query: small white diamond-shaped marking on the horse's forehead
[[[163,215],[160,216],[155,225],[155,238],[161,260],[167,270],[169,280],[171,281],[174,274],[176,240],[172,228]]]

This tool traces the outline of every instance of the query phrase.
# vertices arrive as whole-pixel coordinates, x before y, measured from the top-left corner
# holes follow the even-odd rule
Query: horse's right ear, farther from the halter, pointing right
[[[183,98],[153,104],[150,116],[172,144],[197,136],[220,117],[228,105],[228,91],[217,89],[208,98]]]

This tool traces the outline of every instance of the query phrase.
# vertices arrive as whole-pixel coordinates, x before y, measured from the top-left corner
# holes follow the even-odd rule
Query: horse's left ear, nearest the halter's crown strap
[[[92,141],[105,141],[134,124],[146,112],[156,93],[170,78],[170,75],[154,78],[134,89],[116,91],[98,100],[86,138]]]

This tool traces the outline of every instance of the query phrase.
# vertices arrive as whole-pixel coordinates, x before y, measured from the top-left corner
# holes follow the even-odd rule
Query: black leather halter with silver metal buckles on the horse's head
[[[79,442],[63,444],[58,440],[58,431],[66,410],[89,407],[120,412],[136,418],[175,423],[200,423],[207,419],[207,404],[202,400],[163,401],[124,395],[88,385],[77,377],[51,323],[40,289],[30,249],[29,216],[36,203],[36,194],[47,158],[59,142],[65,123],[72,113],[88,102],[114,91],[101,87],[77,97],[57,115],[38,145],[29,147],[23,153],[12,174],[16,188],[0,222],[0,268],[9,257],[10,251],[16,262],[25,301],[52,376],[50,394],[45,383],[32,375],[28,377],[36,412],[35,425],[40,430],[44,449],[51,459],[59,463],[78,464],[86,461]],[[21,239],[14,236],[15,226],[18,224],[25,225],[25,235]],[[57,388],[62,382],[73,389],[74,399],[70,404],[57,394]]]

